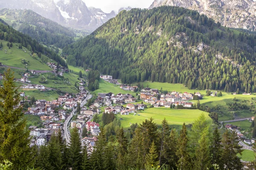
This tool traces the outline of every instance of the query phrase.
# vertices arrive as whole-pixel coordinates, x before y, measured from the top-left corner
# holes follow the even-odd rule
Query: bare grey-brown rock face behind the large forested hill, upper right
[[[253,0],[154,0],[149,8],[158,6],[188,8],[223,26],[256,31],[256,2]]]

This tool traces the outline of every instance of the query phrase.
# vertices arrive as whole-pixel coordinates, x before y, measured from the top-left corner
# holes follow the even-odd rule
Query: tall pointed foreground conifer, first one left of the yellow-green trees
[[[178,161],[176,167],[178,170],[190,170],[191,163],[189,158],[189,153],[187,151],[188,137],[186,132],[186,125],[183,123],[182,130],[180,130],[180,136],[177,140],[177,152],[176,156]]]

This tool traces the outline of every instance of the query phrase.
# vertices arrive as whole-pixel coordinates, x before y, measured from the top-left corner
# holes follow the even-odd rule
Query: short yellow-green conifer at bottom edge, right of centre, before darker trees
[[[154,141],[151,143],[151,146],[149,148],[149,153],[145,156],[145,169],[151,170],[152,168],[156,168],[159,165],[158,160],[158,154],[157,154],[157,148],[154,144]]]

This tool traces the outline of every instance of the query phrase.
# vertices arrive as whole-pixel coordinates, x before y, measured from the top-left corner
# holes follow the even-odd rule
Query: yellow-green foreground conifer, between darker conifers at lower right
[[[195,151],[194,170],[207,170],[210,167],[209,131],[205,129],[198,141],[199,146]]]

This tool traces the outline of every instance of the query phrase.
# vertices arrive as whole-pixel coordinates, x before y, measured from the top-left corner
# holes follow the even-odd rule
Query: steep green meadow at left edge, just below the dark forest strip
[[[9,49],[6,45],[7,41],[0,40],[0,42],[3,43],[3,48],[0,50],[0,61],[3,65],[25,69],[24,64],[21,62],[21,59],[24,59],[26,62],[28,62],[27,68],[30,70],[52,70],[40,59],[32,58],[29,55],[29,51],[26,51],[25,53],[21,49],[17,49],[15,43],[13,44],[12,48]],[[7,50],[7,53],[5,53],[5,49]]]

